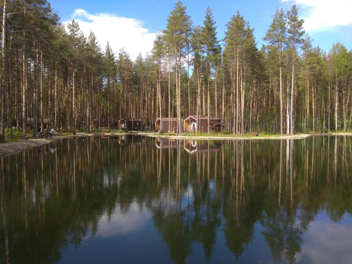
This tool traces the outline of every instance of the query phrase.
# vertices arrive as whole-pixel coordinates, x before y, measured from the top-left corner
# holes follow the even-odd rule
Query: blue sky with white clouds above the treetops
[[[174,7],[174,1],[89,1],[51,0],[61,21],[78,21],[83,33],[90,30],[97,35],[102,49],[109,41],[115,53],[124,46],[134,59],[139,51],[145,54],[151,49],[155,34],[166,27],[166,19]],[[287,11],[293,4],[300,7],[300,17],[305,19],[306,32],[312,36],[313,45],[328,51],[333,43],[341,42],[348,50],[352,48],[352,0],[184,0],[187,13],[193,24],[202,24],[209,5],[216,21],[218,38],[224,37],[226,23],[233,14],[240,11],[254,27],[254,35],[260,48],[263,44],[271,15],[276,7]]]

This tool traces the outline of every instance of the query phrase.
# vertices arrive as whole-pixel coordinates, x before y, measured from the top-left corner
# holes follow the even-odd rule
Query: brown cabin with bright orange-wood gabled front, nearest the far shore
[[[210,115],[209,117],[210,129],[215,132],[220,132],[222,127],[225,126],[221,123],[221,118]],[[198,129],[197,129],[198,127]],[[188,132],[200,131],[208,132],[208,116],[207,115],[190,115],[184,119],[184,129]]]

